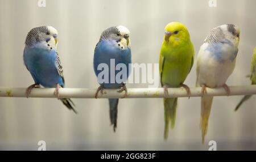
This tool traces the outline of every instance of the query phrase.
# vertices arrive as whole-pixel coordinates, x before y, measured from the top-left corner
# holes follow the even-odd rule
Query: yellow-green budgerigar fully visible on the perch
[[[166,25],[164,40],[160,51],[159,71],[161,85],[164,87],[164,139],[168,138],[169,123],[174,128],[177,98],[168,97],[168,87],[184,87],[190,96],[189,87],[184,83],[192,69],[194,48],[188,29],[179,22]]]

